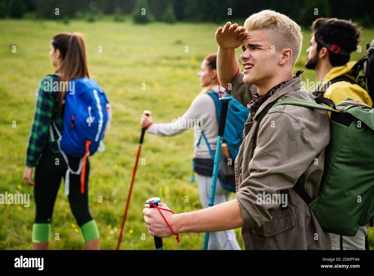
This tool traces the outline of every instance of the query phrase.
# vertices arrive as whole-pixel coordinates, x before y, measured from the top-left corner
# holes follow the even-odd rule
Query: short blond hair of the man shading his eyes
[[[303,34],[295,21],[274,10],[261,10],[248,17],[244,27],[246,31],[267,30],[276,49],[292,50],[291,64],[292,67],[295,65],[303,45]]]

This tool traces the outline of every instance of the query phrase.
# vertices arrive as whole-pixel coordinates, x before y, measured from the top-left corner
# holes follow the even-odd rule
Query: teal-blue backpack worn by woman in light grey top
[[[214,92],[214,90],[210,90],[211,92],[208,93],[209,96],[212,97],[215,104],[215,110],[217,114],[217,123],[220,120],[220,113],[221,113],[221,102],[219,100],[218,92]],[[232,100],[229,102],[229,107],[227,108],[227,117],[226,117],[226,126],[225,132],[223,135],[223,143],[227,144],[227,148],[229,151],[230,156],[226,156],[221,152],[220,157],[220,164],[218,169],[218,178],[220,179],[220,183],[222,186],[231,191],[236,191],[235,186],[235,170],[234,170],[234,162],[239,152],[239,147],[243,142],[243,129],[244,123],[247,121],[249,110],[248,108],[243,107],[238,101],[236,101],[232,96],[228,95],[226,92],[222,95],[223,97],[231,98]],[[200,126],[201,129],[201,126]],[[197,142],[197,147],[199,147],[201,138],[204,138],[206,145],[208,146],[209,152],[212,156],[212,160],[214,162],[214,153],[209,146],[208,140],[201,129],[201,136],[199,141]],[[230,158],[230,160],[229,160]],[[194,168],[194,162],[192,166]],[[191,181],[194,181],[194,177],[191,178]]]

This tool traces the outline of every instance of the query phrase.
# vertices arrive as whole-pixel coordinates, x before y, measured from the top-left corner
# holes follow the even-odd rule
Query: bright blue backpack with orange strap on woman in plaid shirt
[[[110,128],[111,121],[107,97],[95,80],[77,78],[71,80],[71,83],[74,84],[72,91],[65,94],[62,133],[59,133],[52,121],[58,135],[58,148],[68,168],[65,175],[65,195],[69,194],[70,173],[81,175],[81,192],[84,193],[87,157],[97,150],[104,151],[102,139],[105,130]],[[52,126],[49,126],[49,132],[54,141]],[[81,157],[77,171],[70,168],[67,155]]]

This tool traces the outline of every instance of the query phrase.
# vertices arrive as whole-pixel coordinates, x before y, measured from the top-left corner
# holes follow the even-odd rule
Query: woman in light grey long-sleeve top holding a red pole
[[[201,130],[198,124],[204,131],[209,146],[213,152],[217,145],[218,123],[215,111],[214,100],[208,93],[218,93],[217,83],[217,54],[211,54],[204,58],[201,70],[197,74],[200,78],[200,85],[204,87],[202,92],[192,101],[190,107],[178,119],[172,120],[171,123],[153,123],[152,117],[142,115],[140,124],[147,129],[148,133],[157,134],[160,136],[173,136],[182,133],[188,128],[194,128],[194,151],[193,158],[203,158],[211,160],[208,146],[204,139],[201,139],[199,146],[197,143],[201,136]],[[223,89],[221,89],[223,91]],[[199,189],[200,201],[203,208],[208,207],[210,187],[212,184],[212,177],[209,175],[197,175],[197,187]],[[220,204],[229,201],[231,193],[225,190],[217,181],[217,188],[215,192],[215,204]],[[220,231],[211,233],[209,236],[209,250],[219,250],[220,248],[226,250],[240,250],[237,243],[234,230]]]

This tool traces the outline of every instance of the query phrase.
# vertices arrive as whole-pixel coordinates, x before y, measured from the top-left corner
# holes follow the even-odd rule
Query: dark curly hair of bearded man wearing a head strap
[[[341,49],[353,52],[357,49],[361,27],[351,20],[338,18],[318,18],[311,26],[317,42],[317,52],[323,46],[318,39],[324,42],[334,43]],[[349,62],[349,55],[334,54],[328,51],[329,61],[332,66],[344,65]]]

